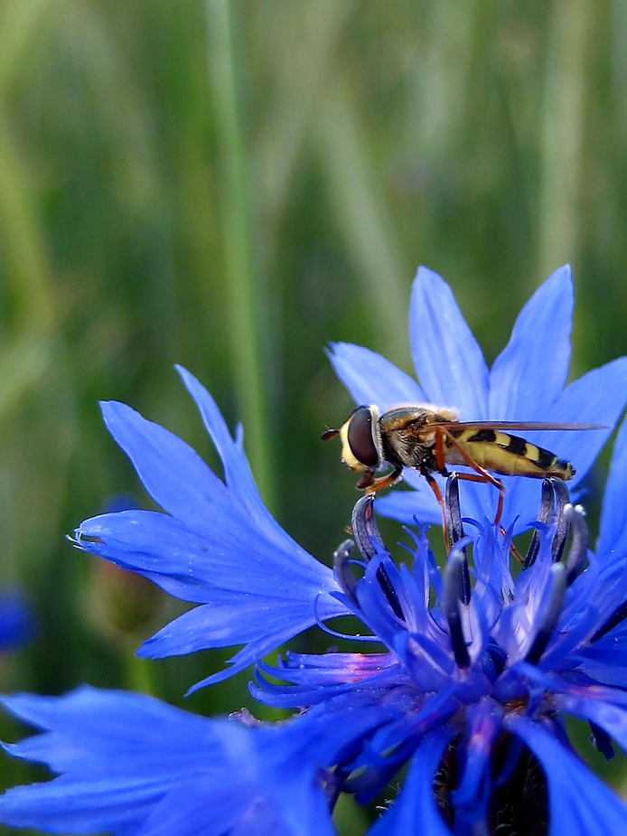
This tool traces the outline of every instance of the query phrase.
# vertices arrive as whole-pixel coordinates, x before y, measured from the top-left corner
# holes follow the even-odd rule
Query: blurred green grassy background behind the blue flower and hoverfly
[[[98,399],[216,465],[182,363],[327,560],[355,494],[319,441],[351,409],[323,346],[411,371],[419,263],[488,362],[566,261],[572,375],[627,353],[626,43],[622,0],[0,2],[0,583],[39,622],[2,690],[180,704],[225,655],[133,661],[176,606],[64,540],[118,494],[152,507]]]

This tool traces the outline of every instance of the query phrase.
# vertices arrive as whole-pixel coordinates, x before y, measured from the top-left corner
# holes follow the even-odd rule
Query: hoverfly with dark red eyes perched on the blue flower
[[[327,429],[322,438],[340,436],[342,461],[363,473],[357,487],[367,493],[398,482],[403,467],[417,470],[435,493],[443,519],[444,502],[433,474],[449,475],[446,465],[469,466],[474,473],[458,473],[460,479],[491,484],[499,491],[496,525],[501,520],[505,488],[492,473],[532,479],[557,476],[565,482],[575,475],[570,462],[505,430],[602,428],[541,421],[460,421],[454,410],[429,405],[388,409],[379,417],[379,409],[371,404],[353,409],[340,429]],[[386,465],[392,470],[375,477]]]

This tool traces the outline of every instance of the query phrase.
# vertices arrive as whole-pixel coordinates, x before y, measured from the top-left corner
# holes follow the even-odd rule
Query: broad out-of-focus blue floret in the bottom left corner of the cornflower
[[[295,747],[289,726],[247,728],[144,695],[86,687],[61,698],[4,702],[44,729],[8,747],[12,754],[62,773],[0,798],[0,820],[14,827],[117,836],[332,836],[316,761]],[[283,792],[286,775],[292,794]],[[306,818],[297,805],[306,805]]]

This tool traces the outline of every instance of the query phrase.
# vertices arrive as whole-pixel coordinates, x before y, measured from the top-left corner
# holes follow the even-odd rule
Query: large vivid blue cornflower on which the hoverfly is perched
[[[524,344],[518,366],[513,349],[495,363],[493,397],[504,404],[515,401],[517,392],[536,397],[522,362],[532,358],[532,329],[520,323],[529,306],[546,311],[547,297],[564,285],[563,276],[549,279],[519,318],[510,343],[519,351]],[[426,301],[439,293],[440,341],[450,346],[454,337],[447,328],[459,321],[456,308],[446,308],[443,299],[454,305],[452,296],[433,274],[419,274],[416,286]],[[554,315],[557,308],[551,308]],[[430,317],[432,324],[437,316]],[[548,318],[544,332],[538,324],[536,339],[559,331],[559,323],[549,327]],[[550,344],[563,366],[564,341]],[[455,362],[466,362],[467,339],[463,348],[457,361],[453,349],[442,352],[459,381],[460,400],[454,391],[437,399],[458,406],[463,418],[482,418],[464,410],[467,372]],[[345,370],[365,350],[338,346],[336,363],[342,352]],[[405,378],[376,355],[362,356],[370,370],[385,372],[384,379],[364,380],[363,390],[352,380],[352,390],[358,400],[386,409],[389,399],[399,399]],[[549,385],[550,358],[543,370],[552,391],[549,416],[512,408],[487,417],[615,422],[622,409],[617,402],[627,397],[624,360],[592,372],[595,385],[586,375],[561,396],[559,375]],[[119,836],[326,836],[334,832],[331,810],[340,794],[356,794],[366,803],[407,767],[398,796],[379,811],[370,836],[627,832],[627,807],[579,760],[563,724],[566,714],[588,721],[605,756],[613,754],[612,739],[627,750],[627,425],[616,439],[594,552],[584,512],[568,501],[563,483],[549,480],[541,491],[529,483],[535,486],[532,503],[517,492],[525,482],[519,479],[508,485],[504,519],[520,514],[523,525],[539,521],[524,567],[512,572],[514,523],[501,536],[491,522],[491,489],[479,485],[460,501],[453,478],[446,502],[455,544],[442,571],[421,525],[410,532],[407,564],[392,561],[369,497],[352,514],[357,550],[352,541],[342,543],[331,570],[272,520],[248,471],[241,434],[235,441],[229,437],[210,396],[180,371],[220,453],[226,484],[162,427],[121,404],[105,404],[110,431],[165,513],[95,517],[80,525],[76,543],[200,605],[156,634],[141,653],[164,656],[243,643],[228,672],[200,684],[257,662],[251,685],[257,700],[300,710],[285,721],[261,724],[245,714],[205,719],[145,696],[85,688],[61,698],[6,698],[9,710],[42,730],[7,749],[47,764],[58,777],[8,791],[0,799],[0,821]],[[438,394],[434,380],[429,387],[421,380],[430,397]],[[621,388],[620,397],[597,392],[596,385]],[[574,388],[579,395],[568,394]],[[416,401],[410,394],[402,399]],[[603,407],[606,395],[613,411]],[[579,409],[585,398],[599,410],[556,407]],[[557,440],[553,448],[574,460],[581,474],[591,460],[577,458],[576,451],[569,455]],[[408,493],[418,508],[420,495]],[[274,666],[260,662],[278,643],[336,615],[359,620],[351,638],[360,642],[360,653],[287,653]],[[376,652],[365,652],[369,643]]]

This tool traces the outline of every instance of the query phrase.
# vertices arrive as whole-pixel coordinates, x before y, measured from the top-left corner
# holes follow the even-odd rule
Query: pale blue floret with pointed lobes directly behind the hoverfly
[[[330,358],[358,404],[379,412],[399,404],[432,403],[456,409],[463,421],[546,421],[604,424],[594,432],[526,433],[530,441],[576,467],[576,487],[611,434],[627,399],[627,358],[608,363],[566,386],[570,361],[573,283],[568,266],[540,286],[520,312],[510,342],[489,370],[482,350],[457,307],[451,288],[419,268],[409,308],[409,337],[416,380],[379,354],[359,345],[335,343]],[[405,470],[414,490],[379,499],[378,511],[411,524],[439,522],[441,512],[425,479]],[[436,478],[440,478],[439,476]],[[501,523],[518,517],[516,531],[529,527],[538,510],[538,483],[502,479],[507,493]],[[482,519],[496,511],[497,492],[485,485],[461,485],[463,512]]]

